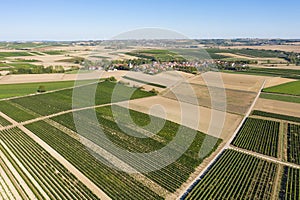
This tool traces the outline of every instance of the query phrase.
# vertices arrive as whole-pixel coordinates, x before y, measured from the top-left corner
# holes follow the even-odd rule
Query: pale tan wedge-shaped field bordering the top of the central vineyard
[[[128,102],[122,102],[118,105],[127,107]],[[184,102],[180,103],[179,101],[164,98],[162,96],[131,100],[129,102],[129,108],[146,114],[149,114],[150,111],[150,114],[153,116],[161,117],[172,122],[182,124],[184,126],[199,130],[203,133],[222,138],[224,140],[228,140],[231,137],[236,127],[242,120],[242,116],[240,115],[224,113],[221,111],[216,111]],[[164,111],[162,111],[162,109]],[[184,109],[184,112],[182,112],[181,109]],[[199,114],[199,121],[193,114],[197,112]],[[211,125],[210,127],[210,123],[213,122],[213,120],[211,119],[212,113],[214,113],[215,118],[213,120],[216,124],[220,124],[220,119],[222,119],[222,117],[225,117],[225,124],[221,132],[218,131],[217,125]]]

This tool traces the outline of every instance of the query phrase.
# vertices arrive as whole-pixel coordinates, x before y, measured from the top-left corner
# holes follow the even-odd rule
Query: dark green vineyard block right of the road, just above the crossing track
[[[248,118],[232,142],[234,146],[277,157],[279,122]]]

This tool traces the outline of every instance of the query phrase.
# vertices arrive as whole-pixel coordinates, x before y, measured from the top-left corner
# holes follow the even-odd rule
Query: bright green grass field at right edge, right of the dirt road
[[[278,94],[289,94],[300,96],[300,81],[284,83],[278,86],[266,88],[264,92],[278,93]]]

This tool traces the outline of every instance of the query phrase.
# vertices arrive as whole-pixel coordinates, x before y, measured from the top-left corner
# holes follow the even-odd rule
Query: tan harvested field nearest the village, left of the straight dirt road
[[[215,76],[217,79],[214,79],[213,76]],[[266,78],[267,77],[263,76],[207,72],[205,73],[205,76],[196,76],[189,82],[199,85],[207,85],[206,82],[209,82],[209,84],[220,87],[218,80],[221,79],[224,83],[224,87],[227,89],[258,92],[261,84]]]

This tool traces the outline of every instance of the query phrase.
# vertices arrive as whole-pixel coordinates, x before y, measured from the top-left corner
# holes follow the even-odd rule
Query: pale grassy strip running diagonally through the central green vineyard
[[[69,129],[69,128],[67,128],[67,127],[51,120],[51,119],[47,119],[47,120],[45,120],[45,122],[47,122],[49,125],[57,128],[57,129],[61,130],[65,134],[67,134],[70,137],[74,138],[75,140],[79,141],[84,146],[89,147],[93,152],[100,155],[101,157],[106,159],[108,162],[110,162],[114,166],[116,166],[118,168],[121,168],[121,169],[126,169],[126,171],[132,172],[132,173],[129,174],[130,176],[132,176],[135,180],[137,180],[137,181],[141,182],[142,184],[144,184],[145,186],[147,186],[149,189],[151,189],[153,192],[157,193],[158,195],[160,195],[162,197],[166,197],[166,196],[171,197],[172,196],[172,194],[168,190],[161,187],[160,185],[155,183],[150,178],[144,176],[143,174],[141,174],[140,172],[135,170],[133,167],[131,167],[130,165],[128,165],[124,161],[117,158],[115,155],[113,155],[110,152],[106,151],[105,149],[99,147],[94,142],[80,136],[79,134],[77,134],[73,130],[71,130],[71,129]]]

